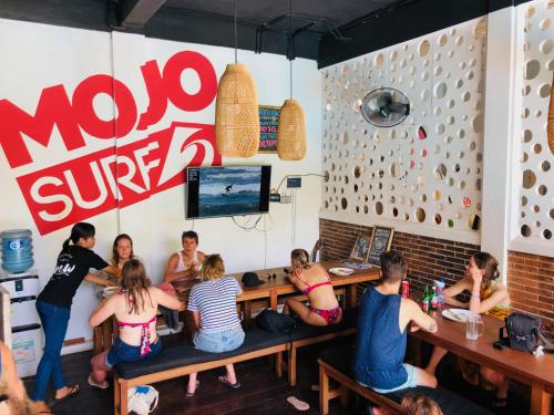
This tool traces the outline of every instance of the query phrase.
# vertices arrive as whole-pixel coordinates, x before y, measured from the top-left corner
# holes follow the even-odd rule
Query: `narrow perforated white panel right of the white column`
[[[554,154],[548,149],[546,122],[554,71],[554,1],[521,6],[524,31],[519,234],[530,243],[554,249]]]

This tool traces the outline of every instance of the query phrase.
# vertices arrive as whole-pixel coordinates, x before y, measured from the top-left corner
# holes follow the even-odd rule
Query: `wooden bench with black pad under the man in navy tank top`
[[[377,406],[386,407],[392,414],[400,414],[400,402],[407,394],[424,394],[430,396],[441,406],[444,415],[492,415],[488,409],[465,400],[450,391],[430,388],[424,386],[380,394],[369,387],[360,385],[350,375],[350,362],[353,356],[352,346],[334,346],[325,350],[318,359],[319,363],[319,411],[322,415],[329,413],[329,401],[340,397],[341,404],[348,404],[349,391],[372,402]],[[339,387],[330,390],[329,378],[339,383]]]

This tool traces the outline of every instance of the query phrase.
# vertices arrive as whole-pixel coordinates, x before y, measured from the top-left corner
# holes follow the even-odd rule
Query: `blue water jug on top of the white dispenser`
[[[2,268],[11,273],[27,271],[34,263],[33,242],[29,229],[10,229],[0,232]]]

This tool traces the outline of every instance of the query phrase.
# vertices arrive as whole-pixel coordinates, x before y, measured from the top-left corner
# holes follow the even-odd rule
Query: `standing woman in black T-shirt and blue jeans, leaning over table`
[[[76,289],[83,279],[112,286],[112,282],[90,273],[91,268],[120,276],[116,267],[107,264],[92,251],[95,243],[94,235],[94,226],[88,222],[79,222],[71,228],[71,235],[63,242],[62,251],[58,256],[54,272],[37,299],[37,311],[44,330],[44,354],[37,369],[32,398],[41,413],[50,413],[44,402],[50,377],[55,390],[54,403],[79,392],[78,384],[65,385],[60,360]]]

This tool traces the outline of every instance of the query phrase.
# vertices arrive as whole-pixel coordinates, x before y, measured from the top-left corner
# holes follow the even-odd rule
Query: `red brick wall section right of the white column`
[[[554,258],[507,252],[507,290],[514,309],[541,317],[554,333]]]

